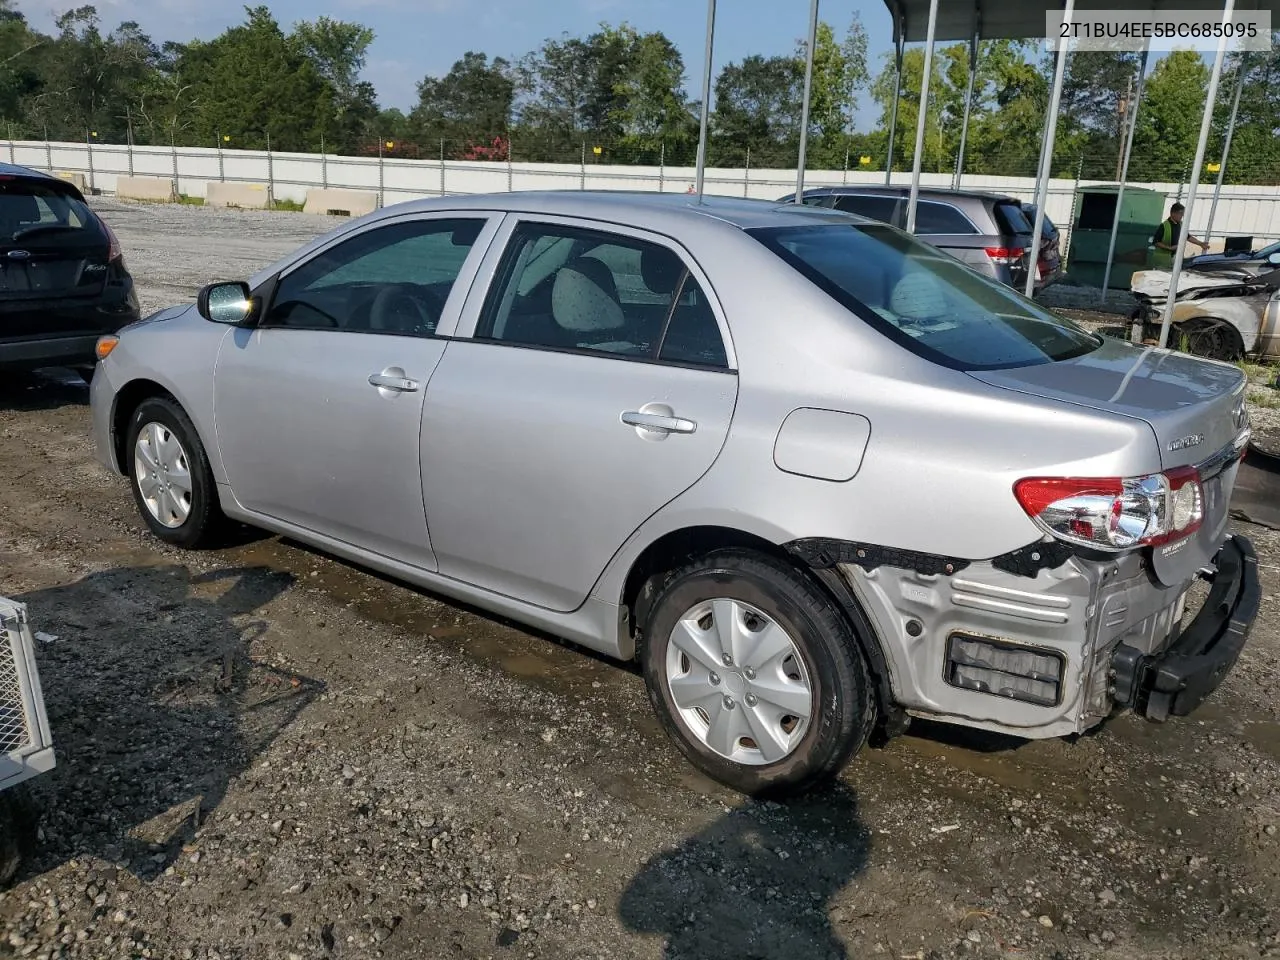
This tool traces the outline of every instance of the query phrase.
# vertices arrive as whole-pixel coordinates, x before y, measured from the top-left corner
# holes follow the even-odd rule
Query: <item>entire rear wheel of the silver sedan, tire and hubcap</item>
[[[849,622],[808,577],[764,554],[721,550],[668,575],[641,650],[668,735],[744,794],[796,794],[833,777],[874,723]]]

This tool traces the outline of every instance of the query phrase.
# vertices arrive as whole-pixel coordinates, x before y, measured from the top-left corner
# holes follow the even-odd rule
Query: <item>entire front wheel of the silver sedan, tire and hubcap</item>
[[[133,499],[151,532],[174,547],[209,547],[225,526],[204,444],[170,399],[143,401],[129,419]]]

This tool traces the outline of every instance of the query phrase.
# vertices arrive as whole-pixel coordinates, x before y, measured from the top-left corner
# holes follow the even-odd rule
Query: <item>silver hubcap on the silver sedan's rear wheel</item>
[[[667,690],[694,740],[735,763],[786,758],[813,716],[795,641],[741,600],[705,600],[685,612],[667,644]]]

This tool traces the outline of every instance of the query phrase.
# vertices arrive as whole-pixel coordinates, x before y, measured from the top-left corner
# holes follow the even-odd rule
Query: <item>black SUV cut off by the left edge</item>
[[[67,180],[0,164],[0,371],[92,374],[97,338],[140,316],[110,227]]]

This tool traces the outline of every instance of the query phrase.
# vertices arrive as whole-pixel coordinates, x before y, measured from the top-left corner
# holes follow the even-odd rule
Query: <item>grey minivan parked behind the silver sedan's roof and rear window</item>
[[[908,187],[815,187],[804,192],[804,202],[905,228],[910,193]],[[794,200],[791,193],[780,202]],[[922,188],[916,198],[920,239],[1016,289],[1027,284],[1033,229],[1021,204],[998,193]]]

